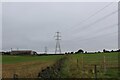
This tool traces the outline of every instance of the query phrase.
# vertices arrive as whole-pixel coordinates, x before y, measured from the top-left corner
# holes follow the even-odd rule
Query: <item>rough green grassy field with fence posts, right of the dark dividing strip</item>
[[[63,78],[95,78],[95,65],[97,78],[118,77],[118,53],[69,55],[60,73]]]

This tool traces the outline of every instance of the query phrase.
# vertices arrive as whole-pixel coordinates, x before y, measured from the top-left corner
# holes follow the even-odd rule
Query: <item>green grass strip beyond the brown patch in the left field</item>
[[[13,55],[3,55],[2,64],[14,64],[19,62],[29,62],[29,61],[51,61],[58,60],[63,55],[49,55],[49,56],[13,56]]]

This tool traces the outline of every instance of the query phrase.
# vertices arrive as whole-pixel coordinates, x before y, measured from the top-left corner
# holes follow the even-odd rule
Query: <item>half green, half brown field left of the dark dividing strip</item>
[[[12,78],[17,74],[19,78],[35,78],[47,66],[53,65],[63,55],[50,56],[2,56],[2,76]]]

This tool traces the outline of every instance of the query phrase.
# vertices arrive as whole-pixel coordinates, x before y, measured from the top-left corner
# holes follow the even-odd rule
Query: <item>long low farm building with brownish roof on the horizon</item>
[[[10,53],[11,55],[36,55],[37,52],[32,50],[13,50]]]

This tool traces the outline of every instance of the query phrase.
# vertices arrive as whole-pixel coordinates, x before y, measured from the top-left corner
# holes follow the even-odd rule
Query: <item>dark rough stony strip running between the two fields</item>
[[[43,69],[38,73],[38,78],[61,78],[60,71],[67,57],[63,57],[58,60],[53,66]]]

